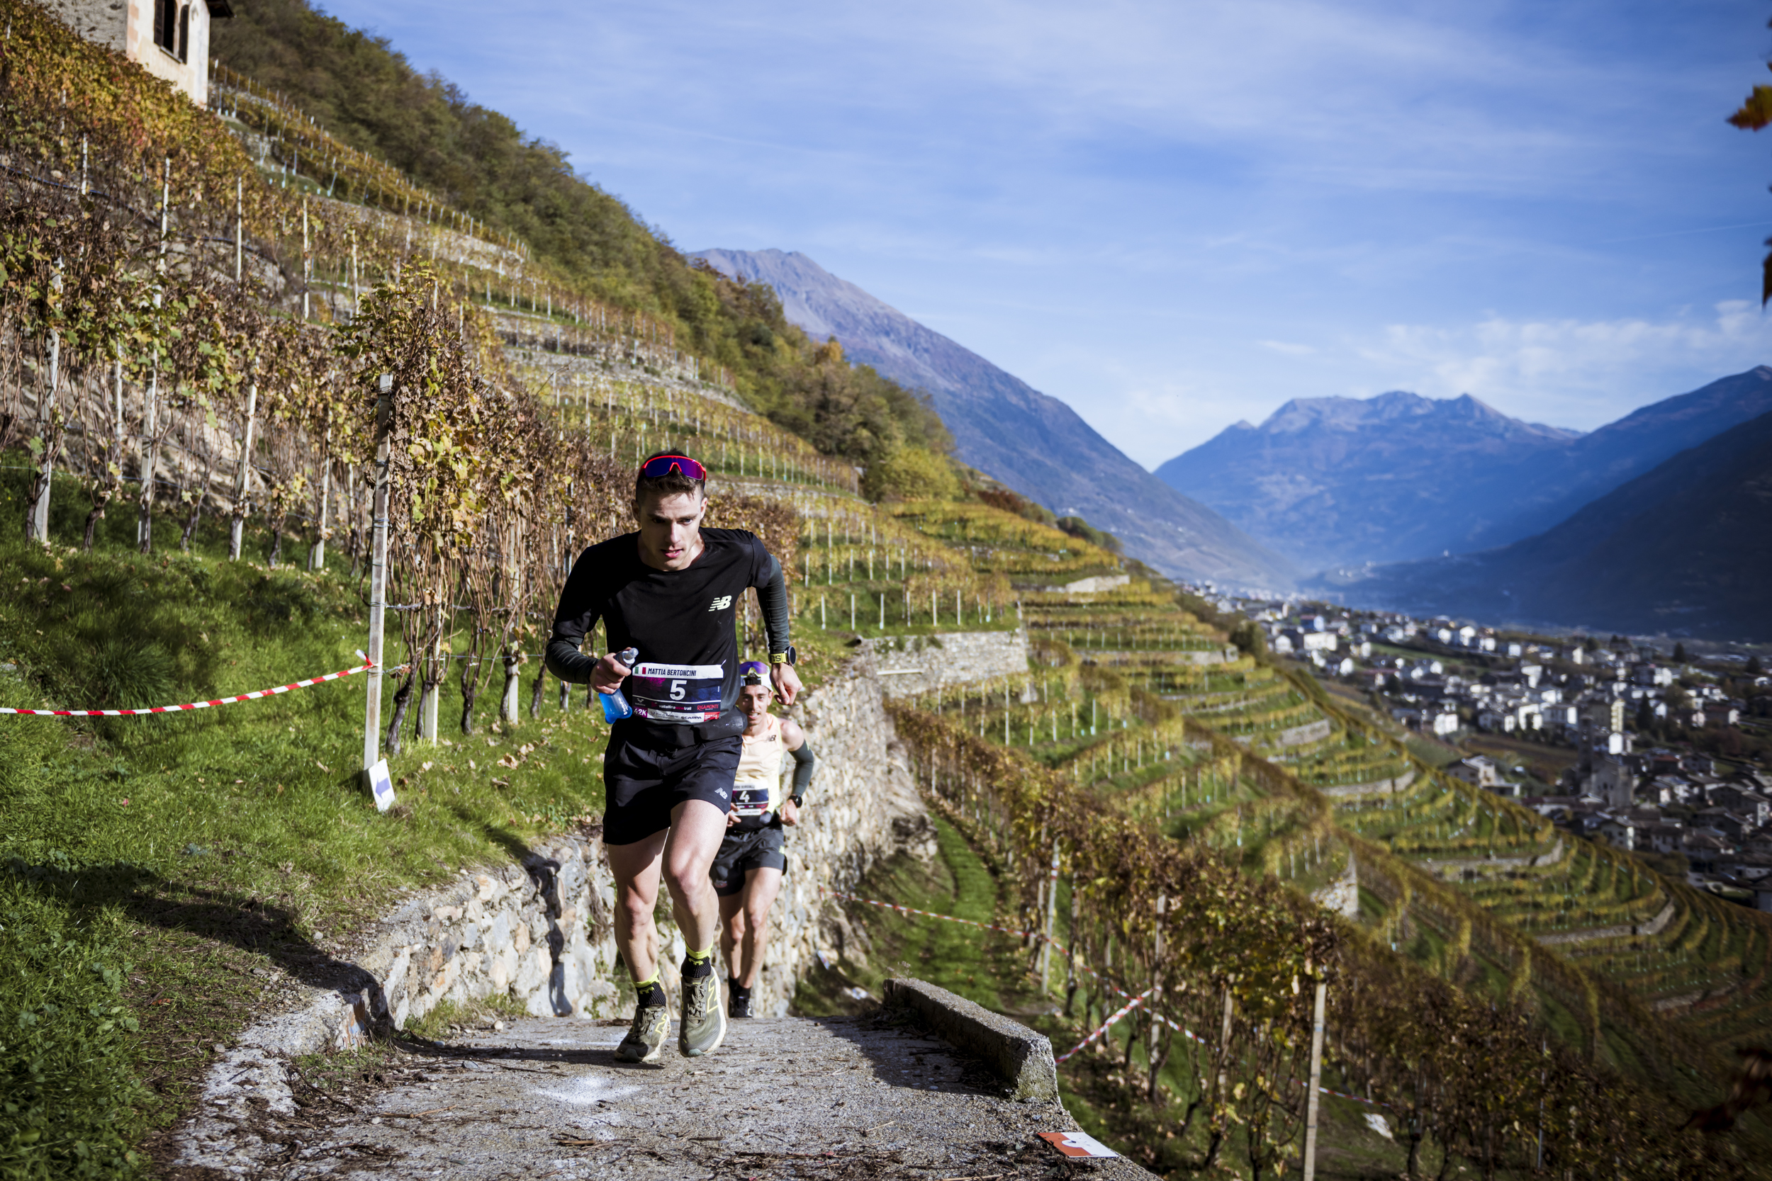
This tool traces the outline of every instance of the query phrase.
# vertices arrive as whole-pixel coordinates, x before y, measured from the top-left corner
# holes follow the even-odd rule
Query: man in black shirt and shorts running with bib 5
[[[744,714],[735,613],[757,588],[769,639],[771,682],[783,701],[799,692],[789,645],[781,563],[742,529],[703,529],[707,471],[688,455],[649,457],[634,478],[636,533],[587,549],[560,593],[548,668],[565,682],[615,692],[627,682],[634,715],[610,728],[602,756],[602,841],[615,875],[615,946],[640,1002],[615,1055],[650,1062],[670,1013],[659,984],[652,907],[659,876],[688,944],[677,1048],[696,1057],[727,1036],[714,976],[719,903],[707,869],[727,832]],[[579,645],[602,620],[610,653]],[[638,648],[633,668],[615,657]]]

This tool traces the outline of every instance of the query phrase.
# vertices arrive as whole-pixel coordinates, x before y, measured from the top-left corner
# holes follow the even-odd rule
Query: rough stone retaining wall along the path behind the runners
[[[851,889],[882,857],[934,857],[936,830],[882,706],[872,655],[852,659],[790,714],[806,728],[819,770],[804,820],[789,830],[789,875],[771,910],[767,967],[753,999],[780,1016],[799,977],[854,933],[820,887]],[[439,1004],[501,999],[537,1016],[624,1016],[633,990],[617,963],[615,884],[597,832],[539,841],[512,862],[408,891],[386,919],[335,947],[349,984],[308,992],[303,1009],[266,1018],[234,1039],[206,1094],[232,1101],[243,1085],[282,1078],[278,1059],[344,1050],[377,1025],[402,1027]],[[661,891],[668,965],[682,938]],[[672,972],[664,974],[675,988]],[[232,1082],[229,1082],[232,1080]]]

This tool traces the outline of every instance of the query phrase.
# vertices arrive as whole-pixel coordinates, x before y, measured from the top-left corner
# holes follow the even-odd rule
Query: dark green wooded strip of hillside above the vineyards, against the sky
[[[820,367],[819,342],[783,319],[774,292],[686,259],[556,145],[420,74],[386,39],[305,0],[264,0],[216,21],[211,51],[344,143],[519,237],[563,283],[666,322],[679,347],[730,370],[755,409],[819,450],[874,467],[900,448],[952,446],[923,398],[865,367]]]

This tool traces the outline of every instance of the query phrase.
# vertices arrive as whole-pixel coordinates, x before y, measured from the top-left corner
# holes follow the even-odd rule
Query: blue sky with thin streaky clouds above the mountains
[[[1772,133],[1724,124],[1763,0],[326,9],[679,246],[801,250],[1146,466],[1294,397],[1586,430],[1772,363]]]

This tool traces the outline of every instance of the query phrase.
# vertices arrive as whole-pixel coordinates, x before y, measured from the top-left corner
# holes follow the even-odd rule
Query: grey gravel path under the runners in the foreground
[[[895,1015],[734,1022],[702,1059],[680,1057],[673,1032],[649,1066],[615,1062],[624,1032],[528,1018],[402,1043],[354,1096],[243,1089],[211,1101],[181,1163],[291,1179],[1150,1177],[1065,1160],[1037,1139],[1076,1130],[1063,1107],[999,1098],[983,1066]]]

